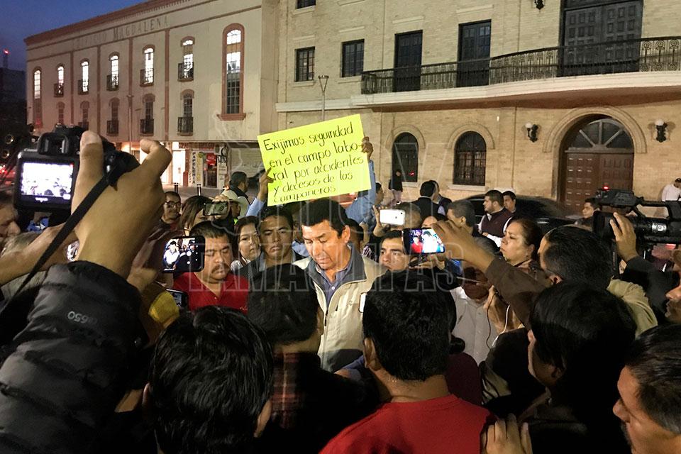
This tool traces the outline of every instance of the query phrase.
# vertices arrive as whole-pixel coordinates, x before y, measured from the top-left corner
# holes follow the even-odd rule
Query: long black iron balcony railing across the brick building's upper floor
[[[681,37],[516,52],[482,60],[362,72],[362,94],[479,87],[555,77],[681,70]]]

